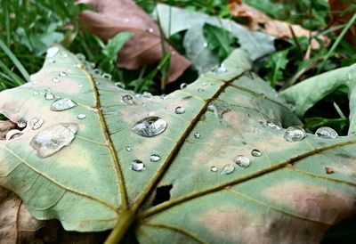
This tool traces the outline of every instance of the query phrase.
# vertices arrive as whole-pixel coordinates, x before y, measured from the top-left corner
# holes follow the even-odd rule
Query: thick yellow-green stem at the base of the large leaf
[[[109,234],[107,240],[104,244],[118,244],[125,237],[126,232],[130,229],[131,225],[134,223],[134,211],[127,209],[121,213],[119,219],[117,220],[117,225]]]

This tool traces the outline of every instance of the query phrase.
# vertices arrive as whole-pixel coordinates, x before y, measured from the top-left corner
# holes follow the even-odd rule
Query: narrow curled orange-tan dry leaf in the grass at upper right
[[[291,38],[293,32],[295,37],[314,37],[317,33],[308,29],[302,28],[299,25],[293,25],[281,20],[273,20],[263,12],[255,8],[241,3],[240,0],[229,0],[229,10],[232,15],[237,17],[247,18],[248,27],[254,30],[259,30],[273,37]],[[292,32],[293,29],[293,32]],[[321,40],[327,42],[326,37],[320,37]],[[312,40],[312,48],[319,48],[320,44],[316,40]]]

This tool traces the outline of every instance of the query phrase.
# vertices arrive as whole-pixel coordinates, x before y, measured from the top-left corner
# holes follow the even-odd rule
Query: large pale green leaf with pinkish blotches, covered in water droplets
[[[31,83],[0,93],[0,113],[28,122],[0,141],[0,183],[66,230],[115,227],[108,243],[129,230],[141,243],[319,242],[354,213],[355,136],[286,142],[266,122],[301,123],[247,53],[223,66],[166,98],[142,96],[53,47]]]

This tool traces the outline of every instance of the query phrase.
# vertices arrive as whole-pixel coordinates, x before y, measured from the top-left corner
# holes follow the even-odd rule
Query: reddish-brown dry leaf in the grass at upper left
[[[128,31],[134,34],[118,53],[117,66],[139,69],[154,64],[162,57],[161,38],[158,25],[131,0],[79,0],[80,4],[91,4],[99,12],[85,11],[79,18],[95,35],[104,41],[117,33]],[[190,61],[174,51],[167,43],[166,50],[172,53],[168,81],[172,82],[190,67]]]

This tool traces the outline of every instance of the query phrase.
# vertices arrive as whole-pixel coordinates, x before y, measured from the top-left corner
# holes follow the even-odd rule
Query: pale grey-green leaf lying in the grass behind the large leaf
[[[160,20],[161,28],[166,37],[186,30],[183,45],[186,56],[193,62],[200,73],[219,64],[218,55],[212,52],[208,40],[204,37],[206,24],[223,28],[239,39],[239,45],[246,49],[249,57],[256,60],[274,51],[274,37],[237,24],[233,20],[219,19],[200,12],[192,12],[166,4],[158,4],[152,16]]]

